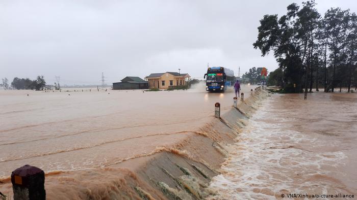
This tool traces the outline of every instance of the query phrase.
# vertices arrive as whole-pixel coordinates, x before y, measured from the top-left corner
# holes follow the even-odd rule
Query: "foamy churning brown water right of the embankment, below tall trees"
[[[273,94],[230,147],[210,199],[356,195],[356,144],[356,94]]]

